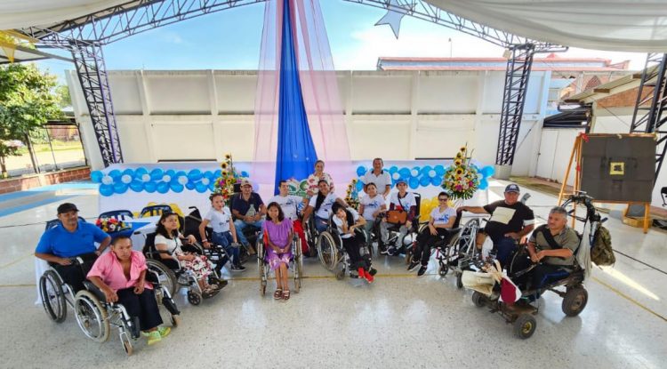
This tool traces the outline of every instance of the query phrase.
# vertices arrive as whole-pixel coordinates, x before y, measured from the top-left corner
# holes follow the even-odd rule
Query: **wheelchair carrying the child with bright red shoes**
[[[358,278],[357,270],[350,267],[350,256],[345,252],[342,245],[341,234],[333,225],[333,216],[329,217],[327,229],[317,234],[316,246],[319,261],[325,269],[332,271],[338,280],[342,280],[348,272],[351,278]],[[359,237],[359,245],[361,245],[359,254],[370,266],[372,254],[369,250],[368,235],[363,229],[355,229],[355,235],[355,237]],[[371,275],[375,275],[377,272],[372,267],[369,267],[368,270]]]

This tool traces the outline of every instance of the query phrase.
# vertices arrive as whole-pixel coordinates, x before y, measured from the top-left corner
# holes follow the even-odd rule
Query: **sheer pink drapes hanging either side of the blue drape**
[[[317,157],[338,189],[354,178],[341,95],[318,0],[290,0],[301,92]],[[277,150],[278,80],[282,1],[266,3],[255,97],[253,180],[272,183]],[[341,190],[339,190],[341,192]],[[343,195],[339,193],[339,195]]]

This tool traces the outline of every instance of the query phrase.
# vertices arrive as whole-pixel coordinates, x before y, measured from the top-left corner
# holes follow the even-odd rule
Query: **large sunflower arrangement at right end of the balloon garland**
[[[470,164],[468,146],[463,146],[454,158],[454,164],[447,168],[442,180],[442,187],[453,199],[469,199],[479,188],[478,170]]]

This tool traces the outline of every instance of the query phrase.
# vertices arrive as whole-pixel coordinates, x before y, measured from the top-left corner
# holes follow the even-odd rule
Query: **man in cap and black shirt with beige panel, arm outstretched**
[[[514,183],[505,188],[504,199],[484,206],[460,206],[457,212],[491,214],[484,231],[494,241],[496,260],[504,268],[517,248],[517,242],[534,229],[534,213],[518,201],[519,189]],[[484,235],[478,240],[483,244]],[[481,242],[479,242],[481,241]]]

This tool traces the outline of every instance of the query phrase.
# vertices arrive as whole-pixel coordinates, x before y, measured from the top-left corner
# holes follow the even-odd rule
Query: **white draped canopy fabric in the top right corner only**
[[[425,0],[460,17],[553,44],[667,52],[666,0]]]

